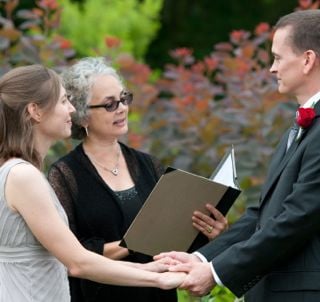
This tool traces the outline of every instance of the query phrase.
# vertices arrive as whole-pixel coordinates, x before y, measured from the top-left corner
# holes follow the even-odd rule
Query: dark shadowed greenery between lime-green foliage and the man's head
[[[162,68],[170,60],[167,53],[173,45],[194,49],[195,57],[200,59],[214,44],[227,40],[233,29],[252,30],[261,21],[273,24],[296,3],[297,0],[165,0],[161,29],[148,48],[146,62]]]

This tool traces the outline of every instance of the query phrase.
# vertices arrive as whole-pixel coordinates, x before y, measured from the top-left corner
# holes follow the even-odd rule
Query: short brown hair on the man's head
[[[320,10],[300,10],[285,15],[275,25],[275,30],[291,28],[288,37],[293,50],[297,53],[313,50],[320,55]]]

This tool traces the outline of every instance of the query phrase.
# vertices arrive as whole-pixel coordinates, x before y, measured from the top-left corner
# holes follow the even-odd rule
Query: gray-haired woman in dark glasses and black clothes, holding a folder
[[[89,250],[132,262],[152,258],[120,247],[119,242],[153,189],[164,167],[153,156],[119,139],[128,131],[133,95],[104,58],[84,58],[62,73],[64,87],[76,108],[72,137],[80,144],[54,163],[48,178],[71,230]],[[190,223],[200,231],[191,249],[213,239],[227,220],[208,205],[208,215],[196,212]],[[177,301],[176,291],[119,287],[70,279],[73,302]]]

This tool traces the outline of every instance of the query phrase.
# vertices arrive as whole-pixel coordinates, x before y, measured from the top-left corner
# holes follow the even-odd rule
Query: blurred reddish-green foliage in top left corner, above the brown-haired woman
[[[33,9],[22,10],[19,1],[0,2],[0,75],[35,63],[59,70],[74,55],[70,42],[56,32],[61,13],[56,1],[36,3]]]

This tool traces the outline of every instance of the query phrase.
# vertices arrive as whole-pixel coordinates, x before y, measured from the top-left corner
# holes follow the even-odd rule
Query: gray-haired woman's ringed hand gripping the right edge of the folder
[[[206,204],[206,209],[209,211],[209,215],[200,211],[193,213],[192,224],[209,240],[212,240],[228,228],[228,220],[211,204]]]

